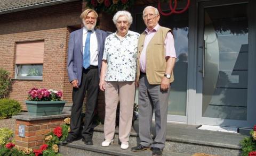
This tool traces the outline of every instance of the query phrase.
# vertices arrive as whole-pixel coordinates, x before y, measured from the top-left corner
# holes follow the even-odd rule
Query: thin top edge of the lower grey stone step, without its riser
[[[81,150],[86,150],[86,151],[91,151],[91,152],[97,152],[97,153],[103,153],[103,154],[110,154],[110,155],[122,155],[122,156],[138,156],[138,155],[145,155],[145,153],[137,153],[137,152],[132,152],[132,153],[129,153],[131,152],[130,149],[127,149],[126,150],[111,150],[111,149],[108,149],[108,148],[103,148],[100,146],[100,148],[95,148],[95,146],[90,146],[90,145],[85,145],[85,144],[79,144],[79,142],[82,142],[81,140],[79,141],[75,141],[73,143],[70,143],[70,144],[67,144],[67,145],[63,145],[62,143],[60,143],[61,146],[67,146],[68,148],[76,148],[76,149],[81,149]],[[94,145],[95,144],[101,144],[101,141],[98,141],[98,140],[94,140]],[[112,144],[111,146],[116,146],[116,148],[120,148],[119,145],[116,145],[116,144]],[[118,147],[117,147],[118,146]],[[121,153],[122,151],[122,153]],[[144,152],[149,152],[149,151],[144,151]],[[188,156],[188,155],[191,155],[191,154],[187,154],[187,153],[177,153],[177,152],[172,152],[172,151],[166,151],[169,154],[174,154],[174,155],[179,155],[179,156]],[[150,152],[151,153],[151,152]],[[146,155],[148,155],[149,153],[146,153]],[[150,154],[151,155],[151,154]],[[163,154],[163,155],[166,155],[166,154]]]

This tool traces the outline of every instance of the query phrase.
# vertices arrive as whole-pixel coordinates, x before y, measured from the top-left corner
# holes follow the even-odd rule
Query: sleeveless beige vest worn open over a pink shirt
[[[164,41],[167,32],[172,30],[165,27],[159,27],[154,37],[149,41],[146,47],[146,75],[149,84],[161,84],[162,78],[166,70],[165,48]],[[140,54],[144,45],[146,32],[143,32],[138,40],[138,55],[137,55],[137,78],[140,77]],[[174,81],[173,72],[171,73],[170,83]]]

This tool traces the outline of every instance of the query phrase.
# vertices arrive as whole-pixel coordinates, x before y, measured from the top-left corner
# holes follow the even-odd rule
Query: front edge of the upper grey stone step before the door
[[[94,128],[95,132],[103,133],[103,129],[101,128]],[[115,134],[118,134],[118,130],[115,130]],[[135,132],[131,132],[130,136],[132,137],[139,137],[139,134]],[[166,141],[170,142],[177,142],[177,143],[186,143],[186,144],[195,144],[195,145],[206,145],[206,146],[212,146],[216,148],[225,148],[225,149],[232,149],[232,150],[242,150],[242,146],[239,145],[232,145],[232,144],[223,144],[223,143],[215,143],[215,142],[206,142],[206,141],[199,141],[199,140],[190,140],[180,137],[172,137],[172,136],[166,136]]]

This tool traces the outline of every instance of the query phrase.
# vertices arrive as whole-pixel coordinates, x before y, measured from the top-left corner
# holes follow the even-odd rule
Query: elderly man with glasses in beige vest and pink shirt
[[[166,123],[170,83],[176,54],[172,30],[158,24],[157,8],[147,6],[143,20],[147,29],[138,41],[137,79],[139,86],[139,136],[140,144],[132,151],[153,150],[162,155],[166,140]],[[156,136],[150,133],[153,110],[155,112]]]

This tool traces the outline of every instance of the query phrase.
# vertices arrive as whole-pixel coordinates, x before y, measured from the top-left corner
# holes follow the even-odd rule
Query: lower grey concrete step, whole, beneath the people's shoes
[[[75,141],[73,143],[67,145],[60,145],[60,153],[63,156],[103,156],[103,155],[122,155],[122,156],[145,156],[145,155],[152,155],[150,150],[142,151],[142,152],[132,152],[130,145],[129,149],[122,150],[120,145],[117,142],[111,144],[108,147],[101,146],[101,140],[93,140],[93,145],[85,145],[82,140]],[[177,153],[172,151],[163,151],[164,156],[189,156],[191,154],[185,153]]]

